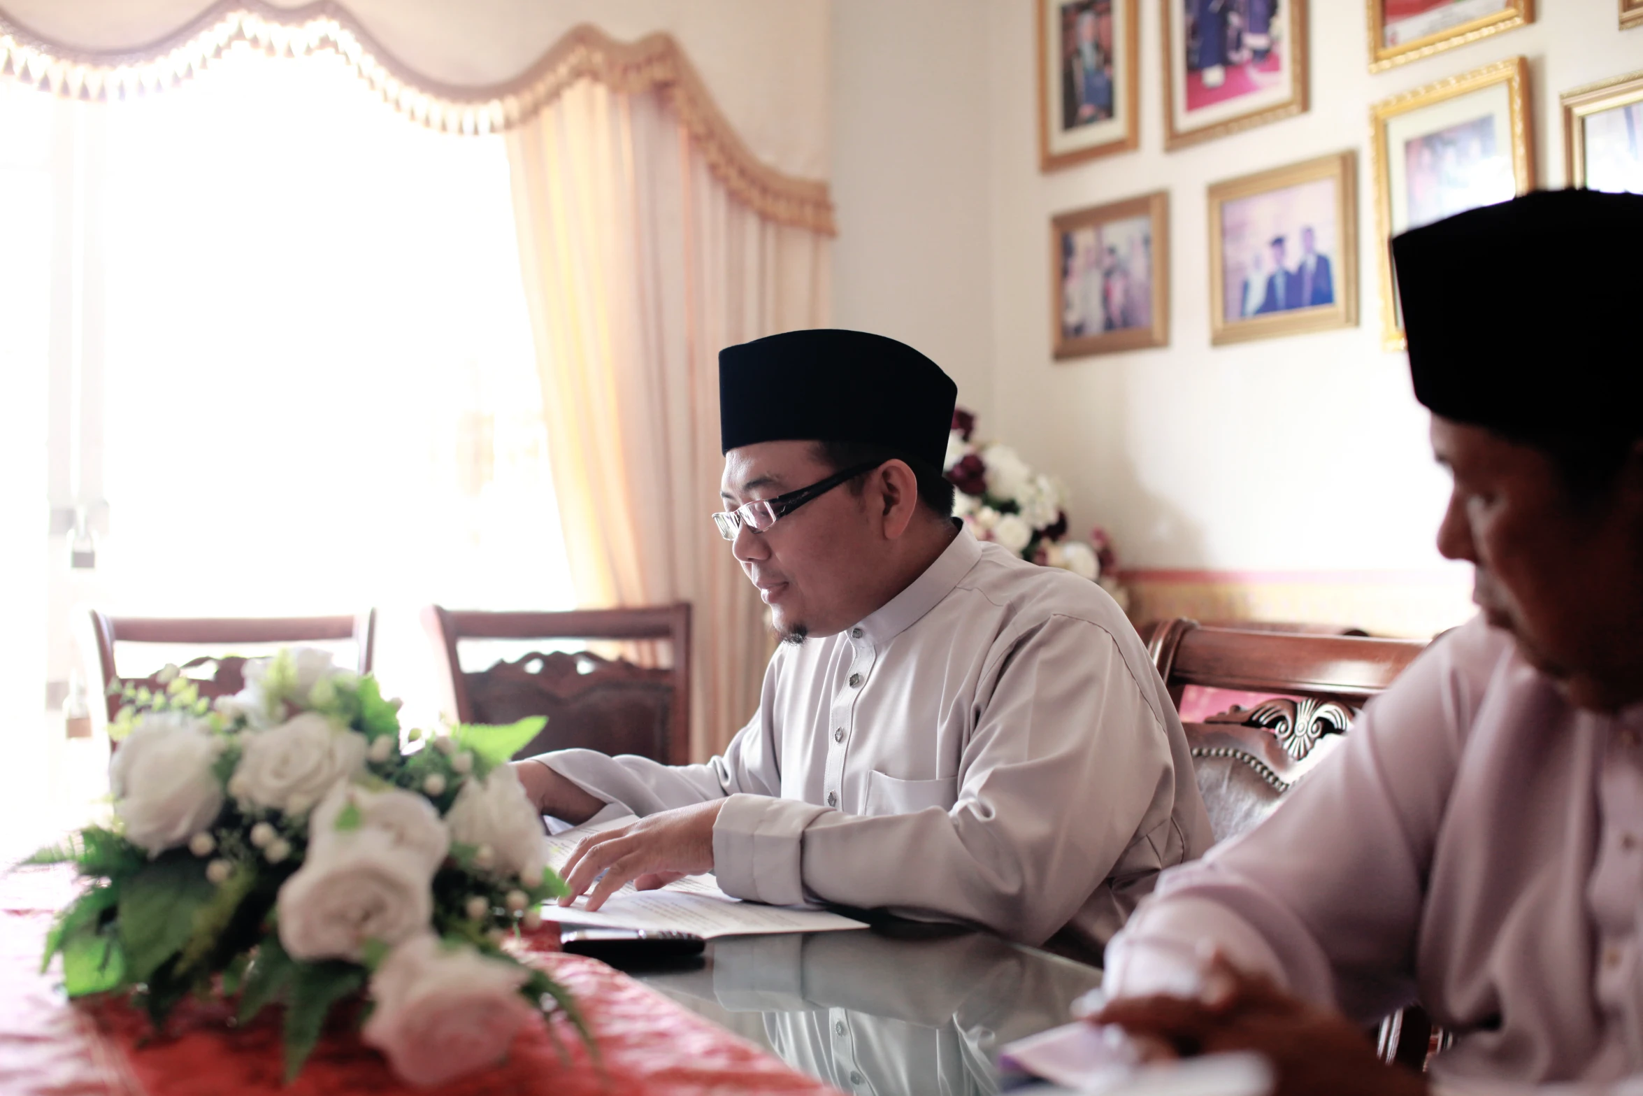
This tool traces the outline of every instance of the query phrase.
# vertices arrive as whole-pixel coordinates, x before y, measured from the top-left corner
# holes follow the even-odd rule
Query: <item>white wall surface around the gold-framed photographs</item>
[[[1526,28],[1370,76],[1364,0],[1313,0],[1305,115],[1163,151],[1160,20],[1142,0],[1142,148],[1040,174],[1027,3],[989,8],[996,427],[1073,488],[1130,564],[1203,569],[1434,569],[1446,477],[1401,353],[1378,347],[1369,105],[1525,54],[1538,177],[1562,182],[1558,94],[1643,67],[1613,0],[1551,0]],[[1209,345],[1206,187],[1341,150],[1359,153],[1360,325]],[[1168,189],[1170,345],[1053,363],[1052,214]],[[1075,524],[1076,527],[1076,524]]]

